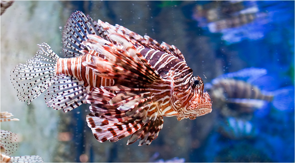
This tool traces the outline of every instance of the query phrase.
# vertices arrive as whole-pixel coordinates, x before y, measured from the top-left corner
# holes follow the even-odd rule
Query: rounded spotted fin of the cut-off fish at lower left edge
[[[6,130],[1,130],[0,135],[1,153],[4,152],[4,154],[10,156],[17,150],[18,147],[17,134]]]

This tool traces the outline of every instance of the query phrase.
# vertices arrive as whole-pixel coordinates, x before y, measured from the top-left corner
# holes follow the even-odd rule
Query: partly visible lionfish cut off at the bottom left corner
[[[1,112],[0,113],[0,121],[19,121],[17,118],[10,118],[12,117],[12,113],[8,112]],[[13,154],[18,147],[18,140],[17,134],[13,132],[1,130],[0,131],[0,160],[1,162],[43,162],[43,159],[40,156],[17,156],[11,157],[10,155]]]

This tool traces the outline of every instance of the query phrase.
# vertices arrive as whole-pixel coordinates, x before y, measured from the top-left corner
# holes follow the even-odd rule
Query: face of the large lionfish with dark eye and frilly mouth
[[[190,80],[191,87],[188,93],[191,98],[188,99],[187,106],[184,107],[182,115],[178,116],[178,120],[190,118],[194,120],[197,116],[203,116],[212,111],[212,102],[207,92],[204,92],[204,82],[199,76],[192,77]]]

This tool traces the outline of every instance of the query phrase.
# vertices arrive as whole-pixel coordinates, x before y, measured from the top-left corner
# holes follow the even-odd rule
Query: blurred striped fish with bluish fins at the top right
[[[260,39],[263,25],[271,21],[271,13],[260,11],[257,1],[213,1],[196,5],[193,19],[212,33],[222,33],[227,43],[243,39]]]

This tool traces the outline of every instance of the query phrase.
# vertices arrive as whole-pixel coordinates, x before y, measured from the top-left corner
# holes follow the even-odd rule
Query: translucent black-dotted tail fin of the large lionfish
[[[17,97],[22,102],[27,101],[27,105],[47,89],[55,75],[55,64],[59,58],[47,43],[38,46],[40,50],[33,59],[10,71],[10,80],[17,91]]]

